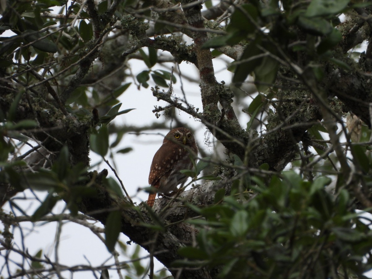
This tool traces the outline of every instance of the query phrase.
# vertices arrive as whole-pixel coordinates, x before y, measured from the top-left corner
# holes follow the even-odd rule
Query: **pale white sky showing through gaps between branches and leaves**
[[[78,23],[77,23],[78,24]],[[189,41],[190,43],[191,41]],[[144,48],[144,51],[147,52],[147,48]],[[166,54],[166,52],[158,51],[158,54]],[[148,70],[148,67],[144,64],[144,62],[140,60],[131,60],[129,64],[132,67],[132,72],[136,76],[143,70]],[[157,64],[153,67],[153,70],[157,69],[164,69],[169,70],[169,67],[175,66],[171,63],[166,63],[168,68],[161,68],[161,65]],[[231,73],[226,70],[226,63],[222,62],[219,59],[214,59],[214,67],[216,73],[216,79],[218,82],[224,80],[227,84],[231,82]],[[182,62],[180,64],[180,69],[183,74],[186,76],[192,77],[193,79],[199,79],[199,73],[196,67],[192,64],[187,64],[186,62]],[[177,83],[173,84],[174,88],[174,95],[179,96],[182,98],[182,92],[180,90],[180,78],[177,74],[176,68],[174,70],[175,76],[177,78]],[[126,79],[124,82],[130,82],[130,78]],[[117,125],[148,125],[153,122],[162,123],[164,122],[164,117],[157,119],[152,112],[154,106],[163,106],[165,102],[160,101],[157,102],[157,99],[152,95],[151,86],[155,84],[152,83],[152,80],[148,81],[150,86],[145,89],[141,87],[140,90],[137,89],[137,86],[134,82],[132,82],[131,87],[126,90],[124,94],[119,97],[120,102],[122,103],[121,110],[135,108],[131,112],[119,115],[115,118],[114,122]],[[199,108],[202,111],[202,104],[201,104],[201,97],[200,97],[200,89],[198,84],[190,83],[185,78],[183,79],[183,86],[184,91],[186,93],[187,101],[194,105],[196,108]],[[163,89],[163,88],[161,88]],[[167,90],[167,89],[164,89]],[[250,101],[250,100],[248,100]],[[213,147],[206,148],[204,144],[205,136],[204,133],[206,131],[205,126],[201,124],[201,122],[194,121],[192,117],[187,115],[186,113],[180,111],[180,117],[192,126],[195,129],[195,138],[198,143],[199,149],[203,148],[207,152],[214,152]],[[240,115],[240,123],[241,125],[245,125],[248,122],[249,118],[246,114]],[[175,128],[175,127],[171,127]],[[157,135],[158,133],[162,135]],[[115,164],[117,166],[116,171],[120,179],[123,181],[124,186],[129,193],[129,195],[133,198],[134,202],[139,204],[142,201],[147,200],[148,194],[141,191],[137,192],[138,188],[141,187],[148,187],[148,174],[150,171],[150,164],[153,158],[153,155],[160,147],[163,141],[163,135],[167,133],[166,130],[160,131],[148,131],[139,136],[126,134],[124,135],[121,143],[118,147],[114,149],[119,150],[125,147],[132,147],[133,151],[127,154],[115,154]],[[211,141],[212,141],[211,136]],[[115,137],[110,138],[110,143],[115,140]],[[115,153],[115,152],[114,152]],[[90,153],[91,157],[91,164],[94,165],[97,162],[101,161],[99,155]],[[106,158],[108,159],[109,156],[107,155]],[[97,171],[102,171],[103,169],[107,169],[109,171],[109,176],[115,177],[112,171],[110,170],[109,166],[105,163],[101,163],[99,166],[94,167]],[[39,199],[44,200],[45,193],[37,192]],[[17,197],[24,198],[24,197],[33,197],[32,193],[29,190],[26,190],[24,193],[19,193]],[[18,205],[22,205],[23,209],[28,213],[32,214],[35,209],[40,205],[38,201],[34,201],[30,204],[29,200],[24,202],[18,202]],[[61,213],[64,209],[65,203],[58,202],[54,208],[54,213]],[[9,206],[3,206],[4,211],[9,211]],[[68,211],[66,211],[68,212]],[[20,215],[19,212],[17,214]],[[103,227],[102,224],[97,224],[100,227]],[[43,250],[43,254],[46,254],[52,261],[55,260],[54,255],[54,241],[55,241],[55,232],[57,230],[57,222],[52,222],[49,224],[43,224],[41,222],[36,223],[36,227],[32,228],[31,223],[22,223],[23,228],[29,228],[30,231],[27,229],[23,229],[24,237],[24,245],[28,248],[28,252],[31,255],[36,254],[37,251],[40,249]],[[2,230],[2,225],[0,227]],[[104,235],[103,235],[104,237]],[[21,245],[21,236],[19,229],[16,228],[15,230],[15,239],[14,243],[16,245]],[[129,240],[128,237],[121,234],[120,240],[125,243]],[[22,248],[22,247],[19,247]],[[119,253],[121,253],[118,245],[116,246]],[[132,244],[128,246],[128,254],[130,255],[132,250],[134,250],[135,245]],[[21,249],[22,250],[22,249]],[[143,250],[143,249],[142,249]],[[4,254],[4,251],[1,251]],[[146,256],[148,253],[147,251],[142,251],[140,256]],[[74,266],[77,264],[92,264],[93,266],[99,266],[100,264],[104,264],[107,259],[111,257],[108,263],[113,263],[113,259],[111,254],[107,251],[105,245],[94,235],[88,228],[83,227],[81,225],[68,222],[64,224],[62,227],[62,233],[60,237],[60,246],[58,250],[59,262],[61,264],[65,264],[68,266]],[[15,253],[12,253],[12,257],[15,260],[19,260],[20,256],[16,256]],[[86,259],[84,258],[86,257]],[[89,262],[88,262],[89,260]],[[119,256],[119,260],[126,260],[126,258],[121,254]],[[0,257],[0,266],[3,265],[3,257]],[[147,262],[144,260],[143,263]],[[160,269],[162,264],[155,263],[155,271]],[[12,268],[12,272],[16,269],[15,266]],[[124,269],[121,270],[122,275],[125,276],[127,273]],[[115,270],[110,270],[110,278],[118,278],[118,274]],[[1,275],[5,278],[8,275],[7,270],[2,270]],[[64,272],[62,275],[65,278],[70,278],[69,272]],[[99,273],[96,273],[99,278]],[[131,275],[129,275],[131,276]],[[92,272],[75,272],[73,274],[73,278],[82,279],[82,278],[94,278]],[[133,277],[135,278],[135,277]]]

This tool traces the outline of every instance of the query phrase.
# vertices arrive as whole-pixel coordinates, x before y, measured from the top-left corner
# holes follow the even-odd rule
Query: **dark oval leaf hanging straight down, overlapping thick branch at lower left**
[[[118,210],[110,212],[105,225],[105,244],[109,252],[115,249],[116,241],[121,230],[121,212]]]

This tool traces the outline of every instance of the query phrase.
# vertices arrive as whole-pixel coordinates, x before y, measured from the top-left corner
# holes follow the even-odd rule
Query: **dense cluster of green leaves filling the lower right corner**
[[[174,266],[218,267],[219,278],[364,277],[371,268],[371,220],[350,211],[347,190],[335,198],[324,190],[328,177],[309,182],[292,171],[268,185],[252,179],[259,193],[252,199],[227,196],[193,207],[202,217],[187,221],[200,230],[196,246],[180,248],[188,260]]]

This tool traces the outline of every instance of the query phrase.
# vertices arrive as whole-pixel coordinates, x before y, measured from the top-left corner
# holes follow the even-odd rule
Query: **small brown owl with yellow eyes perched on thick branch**
[[[187,148],[185,148],[187,147]],[[191,157],[196,160],[198,147],[192,132],[186,128],[171,130],[164,138],[163,145],[155,153],[151,163],[148,183],[157,188],[158,193],[169,195],[177,191],[177,185],[184,183],[187,176],[180,170],[190,170],[193,167]],[[148,195],[147,204],[154,205],[156,193]]]

